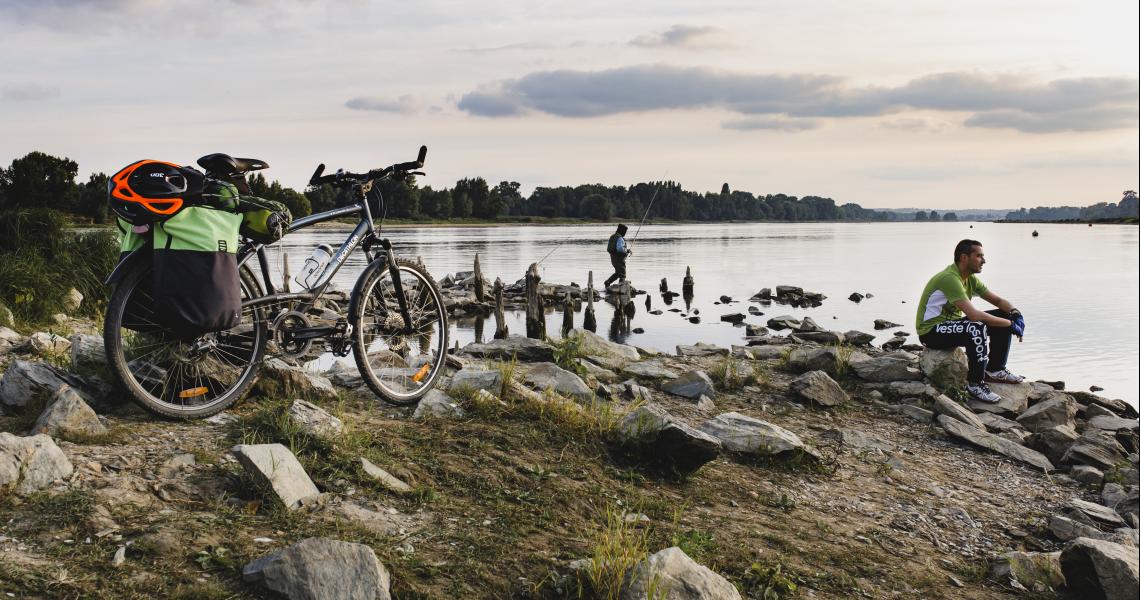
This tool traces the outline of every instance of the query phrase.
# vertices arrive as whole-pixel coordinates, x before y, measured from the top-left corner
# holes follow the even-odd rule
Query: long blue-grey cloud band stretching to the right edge
[[[484,86],[459,99],[479,116],[542,112],[593,117],[661,110],[723,108],[742,115],[795,119],[882,116],[907,111],[972,113],[968,127],[1028,133],[1134,127],[1134,78],[1035,82],[1016,75],[936,73],[898,87],[853,87],[819,74],[756,74],[707,67],[640,65],[603,71],[539,71]],[[726,123],[746,129],[752,121]],[[795,121],[755,121],[784,129]]]

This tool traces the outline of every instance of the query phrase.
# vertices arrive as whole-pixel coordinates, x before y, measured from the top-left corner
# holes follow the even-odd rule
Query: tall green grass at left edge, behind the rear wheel
[[[97,316],[109,291],[103,285],[119,258],[113,232],[75,234],[59,213],[26,209],[0,213],[0,303],[17,323],[43,323],[64,311],[72,287],[83,294],[79,313]]]

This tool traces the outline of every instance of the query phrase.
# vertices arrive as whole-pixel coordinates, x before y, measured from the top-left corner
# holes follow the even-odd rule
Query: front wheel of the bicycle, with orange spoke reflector
[[[352,291],[352,354],[365,383],[390,404],[407,406],[443,373],[447,310],[423,265],[397,259],[410,327],[400,313],[397,285],[383,260],[369,265]]]

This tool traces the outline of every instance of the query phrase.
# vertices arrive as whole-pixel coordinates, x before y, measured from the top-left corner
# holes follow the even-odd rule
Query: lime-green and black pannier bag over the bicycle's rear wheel
[[[152,226],[158,323],[184,338],[237,325],[242,315],[237,275],[241,225],[241,214],[189,206]]]

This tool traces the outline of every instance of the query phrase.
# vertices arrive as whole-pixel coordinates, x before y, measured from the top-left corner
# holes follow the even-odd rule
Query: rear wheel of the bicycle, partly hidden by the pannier
[[[220,413],[253,386],[268,340],[264,316],[246,307],[236,327],[180,340],[153,319],[153,273],[152,261],[140,262],[112,293],[103,329],[111,371],[137,404],[160,416],[189,420]],[[239,282],[243,301],[262,295],[245,267]],[[192,352],[203,340],[212,340],[213,347]]]

